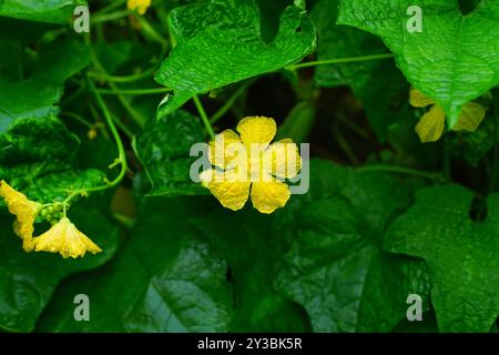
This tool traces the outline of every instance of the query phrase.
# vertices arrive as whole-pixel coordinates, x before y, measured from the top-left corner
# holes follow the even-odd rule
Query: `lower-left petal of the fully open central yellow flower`
[[[221,172],[214,169],[200,174],[203,186],[230,210],[237,211],[244,207],[249,195],[251,182],[247,172],[231,170]]]

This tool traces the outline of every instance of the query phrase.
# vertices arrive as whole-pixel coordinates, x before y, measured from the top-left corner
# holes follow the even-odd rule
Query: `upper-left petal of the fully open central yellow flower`
[[[243,163],[245,159],[246,148],[241,142],[240,136],[232,130],[225,130],[215,135],[210,142],[208,160],[210,162],[222,169],[235,168]],[[241,160],[240,160],[241,159]]]

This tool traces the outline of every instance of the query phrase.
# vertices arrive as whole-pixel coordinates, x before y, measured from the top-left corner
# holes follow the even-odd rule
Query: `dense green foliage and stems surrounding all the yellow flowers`
[[[1,1],[0,179],[52,202],[115,178],[95,90],[129,170],[70,211],[95,256],[24,253],[0,204],[0,329],[497,332],[498,48],[499,0]],[[411,87],[448,126],[471,100],[486,119],[421,144]],[[310,143],[309,192],[272,215],[189,178],[191,145],[247,115]]]

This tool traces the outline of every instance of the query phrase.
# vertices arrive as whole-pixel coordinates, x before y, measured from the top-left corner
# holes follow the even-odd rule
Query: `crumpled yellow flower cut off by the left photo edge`
[[[0,196],[6,200],[9,212],[18,217],[13,225],[16,234],[24,241],[31,240],[34,231],[33,223],[42,205],[28,200],[23,193],[12,189],[3,180],[0,182]]]

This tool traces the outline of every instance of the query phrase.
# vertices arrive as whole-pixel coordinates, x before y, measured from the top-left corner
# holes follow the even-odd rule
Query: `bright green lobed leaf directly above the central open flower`
[[[315,48],[315,29],[305,12],[287,7],[272,42],[261,34],[253,0],[213,0],[180,7],[170,14],[177,45],[163,61],[156,81],[173,89],[160,111],[167,114],[204,93],[301,60]]]

